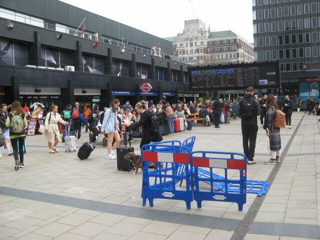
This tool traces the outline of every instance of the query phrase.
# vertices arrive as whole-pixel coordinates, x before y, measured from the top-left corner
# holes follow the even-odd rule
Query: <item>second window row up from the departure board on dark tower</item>
[[[318,38],[319,34],[319,38]],[[276,45],[288,45],[297,43],[310,43],[318,42],[320,40],[320,31],[297,33],[297,34],[285,34],[285,35],[273,35],[273,36],[259,36],[254,37],[254,46],[276,46]]]

